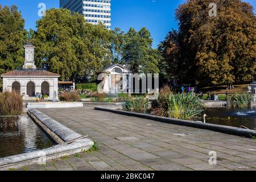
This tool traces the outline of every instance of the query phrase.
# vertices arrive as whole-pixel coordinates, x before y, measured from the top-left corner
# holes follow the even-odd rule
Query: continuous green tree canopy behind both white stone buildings
[[[0,7],[0,13],[0,73],[22,67],[26,41],[35,46],[36,67],[58,73],[63,81],[96,77],[110,63],[134,73],[159,72],[160,54],[147,28],[111,31],[102,23],[87,23],[79,13],[49,9],[36,22],[36,31],[26,31],[16,6]]]

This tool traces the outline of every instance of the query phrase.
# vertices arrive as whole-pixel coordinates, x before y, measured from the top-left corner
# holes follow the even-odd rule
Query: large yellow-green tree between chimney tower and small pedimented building
[[[91,76],[110,63],[112,32],[102,23],[85,22],[84,16],[67,9],[47,10],[36,22],[32,35],[35,63],[59,73],[61,80]]]

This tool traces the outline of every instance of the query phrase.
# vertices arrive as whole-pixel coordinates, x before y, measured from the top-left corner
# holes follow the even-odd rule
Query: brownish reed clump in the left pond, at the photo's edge
[[[20,115],[23,110],[22,96],[16,92],[0,93],[0,115]],[[1,127],[15,126],[16,118],[0,118]]]

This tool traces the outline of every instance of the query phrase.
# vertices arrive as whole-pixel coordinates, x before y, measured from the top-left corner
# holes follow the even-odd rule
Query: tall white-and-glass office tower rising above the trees
[[[60,7],[84,15],[86,22],[111,26],[111,0],[60,0]]]

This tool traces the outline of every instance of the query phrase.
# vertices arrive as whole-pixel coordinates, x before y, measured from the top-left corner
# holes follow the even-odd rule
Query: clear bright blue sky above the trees
[[[154,38],[154,47],[164,39],[167,33],[177,28],[174,18],[175,9],[185,0],[112,0],[112,28],[124,31],[134,27],[139,30],[147,27]],[[256,8],[255,0],[250,2]],[[38,16],[38,4],[45,3],[47,9],[59,8],[59,0],[0,0],[0,5],[17,5],[26,20],[26,28],[35,29]],[[254,10],[256,13],[256,11]]]

